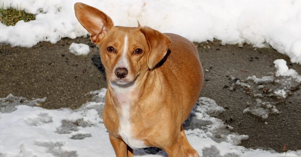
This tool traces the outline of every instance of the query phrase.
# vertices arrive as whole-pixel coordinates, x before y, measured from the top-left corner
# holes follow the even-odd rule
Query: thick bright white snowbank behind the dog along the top
[[[0,42],[31,47],[40,41],[55,43],[63,37],[86,36],[76,20],[78,0],[0,0],[4,8],[17,5],[37,14],[36,20],[15,26],[0,24]],[[150,26],[161,32],[182,35],[191,41],[222,40],[222,44],[247,42],[256,47],[271,45],[293,63],[301,63],[301,1],[95,1],[84,3],[108,14],[116,26]]]

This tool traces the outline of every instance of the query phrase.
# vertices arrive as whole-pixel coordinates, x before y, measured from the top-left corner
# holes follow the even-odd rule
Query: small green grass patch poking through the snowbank
[[[0,8],[0,21],[6,26],[14,26],[18,21],[24,20],[28,22],[30,20],[36,20],[36,15],[26,13],[24,10],[8,8]]]

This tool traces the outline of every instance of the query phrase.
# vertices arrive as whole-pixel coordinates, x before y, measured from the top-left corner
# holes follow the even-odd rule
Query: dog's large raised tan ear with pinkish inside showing
[[[90,5],[75,3],[74,11],[79,23],[91,34],[90,37],[94,43],[100,42],[104,35],[114,27],[109,16]]]

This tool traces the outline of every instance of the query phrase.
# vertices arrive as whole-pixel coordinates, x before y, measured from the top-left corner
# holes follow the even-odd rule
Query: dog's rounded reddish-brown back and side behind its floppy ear
[[[172,87],[180,88],[176,90],[181,91],[177,97],[182,97],[183,104],[188,105],[178,106],[187,111],[183,113],[182,120],[185,121],[199,97],[203,84],[203,68],[192,42],[180,35],[164,34],[171,40],[170,52],[164,58],[166,60],[163,59],[164,63],[156,70],[165,74]]]

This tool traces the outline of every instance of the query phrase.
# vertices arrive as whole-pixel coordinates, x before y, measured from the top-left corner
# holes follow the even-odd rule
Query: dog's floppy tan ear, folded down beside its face
[[[142,27],[140,31],[145,35],[150,52],[147,55],[147,66],[153,69],[166,55],[171,43],[169,37],[149,27]]]

